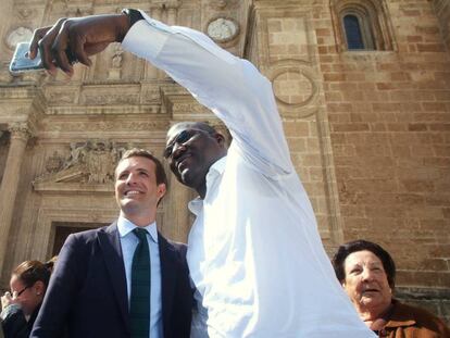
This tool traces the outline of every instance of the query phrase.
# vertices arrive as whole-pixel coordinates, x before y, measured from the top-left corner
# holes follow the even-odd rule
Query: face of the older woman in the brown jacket
[[[391,302],[391,289],[379,258],[371,251],[350,253],[343,262],[342,286],[361,312],[383,313]]]

